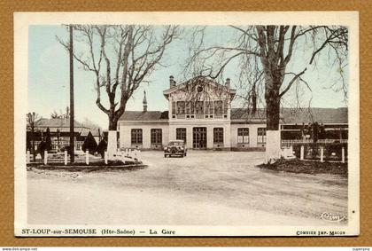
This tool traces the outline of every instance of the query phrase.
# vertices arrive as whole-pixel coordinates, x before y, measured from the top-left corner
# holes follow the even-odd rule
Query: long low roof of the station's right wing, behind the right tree
[[[232,108],[231,121],[237,120],[266,120],[266,109],[258,109],[256,114],[250,114],[249,109]],[[283,123],[347,123],[348,111],[346,107],[341,108],[307,108],[307,109],[292,109],[282,108],[280,118]]]

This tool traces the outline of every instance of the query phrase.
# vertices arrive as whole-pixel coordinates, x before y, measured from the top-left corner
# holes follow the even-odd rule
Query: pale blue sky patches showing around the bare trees
[[[207,43],[228,43],[229,35],[232,35],[230,27],[208,27]],[[68,32],[62,26],[30,26],[28,39],[28,111],[50,117],[54,110],[64,110],[69,105],[69,65],[68,54],[58,43],[56,35],[66,40]],[[302,69],[306,65],[301,57],[306,51],[297,52],[298,59],[291,61],[289,66],[293,71]],[[302,56],[301,56],[302,55]],[[128,101],[127,110],[142,110],[143,89],[147,92],[149,110],[167,110],[167,99],[162,92],[169,87],[168,77],[174,75],[177,82],[182,82],[182,64],[188,56],[188,43],[186,38],[181,38],[171,43],[162,60],[167,67],[158,67],[147,79],[150,83],[144,83],[143,87],[136,90],[133,98]],[[322,60],[317,67],[308,68],[304,78],[311,85],[312,95],[304,92],[301,97],[306,103],[312,97],[312,106],[316,107],[340,107],[346,106],[342,91],[335,92],[325,88],[337,81],[337,69],[329,66]],[[238,71],[236,66],[231,65],[224,76],[237,81]],[[107,116],[99,110],[95,104],[96,90],[93,88],[94,75],[84,71],[78,62],[74,64],[75,83],[75,119],[82,122],[88,118],[96,122],[104,129],[107,128]],[[294,97],[289,93],[286,97],[288,102],[293,103]],[[233,104],[238,106],[238,102]]]

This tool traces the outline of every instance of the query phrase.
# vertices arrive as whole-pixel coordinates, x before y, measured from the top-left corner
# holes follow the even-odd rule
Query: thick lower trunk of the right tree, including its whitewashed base
[[[273,86],[273,85],[271,85]],[[281,137],[280,137],[280,96],[277,85],[266,91],[266,116],[267,116],[267,131],[266,131],[266,163],[274,163],[281,157]]]

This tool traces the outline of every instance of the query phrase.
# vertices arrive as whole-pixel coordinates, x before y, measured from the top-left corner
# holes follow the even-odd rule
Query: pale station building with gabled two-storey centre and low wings
[[[146,94],[143,111],[126,111],[118,123],[122,148],[162,149],[169,140],[182,139],[190,149],[264,151],[266,111],[232,108],[236,90],[230,80],[224,84],[198,76],[176,84],[169,78],[163,91],[168,111],[148,111]],[[313,138],[309,123],[324,129],[322,139],[347,141],[347,108],[309,108],[295,111],[283,108],[282,145],[288,146]],[[342,130],[342,132],[339,132]],[[341,136],[340,136],[341,133]],[[317,133],[318,135],[318,133]],[[332,137],[329,137],[333,135]]]

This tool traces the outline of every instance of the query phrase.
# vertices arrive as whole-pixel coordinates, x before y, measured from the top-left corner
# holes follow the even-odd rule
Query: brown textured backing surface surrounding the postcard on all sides
[[[324,1],[325,2],[325,1]],[[369,28],[372,2],[368,1],[0,1],[2,35],[0,50],[0,246],[372,246],[371,192],[372,171],[368,161],[372,143],[370,127],[372,97]],[[360,12],[360,237],[348,238],[27,238],[13,237],[13,12],[68,11],[359,11]],[[368,190],[369,188],[369,190]]]

